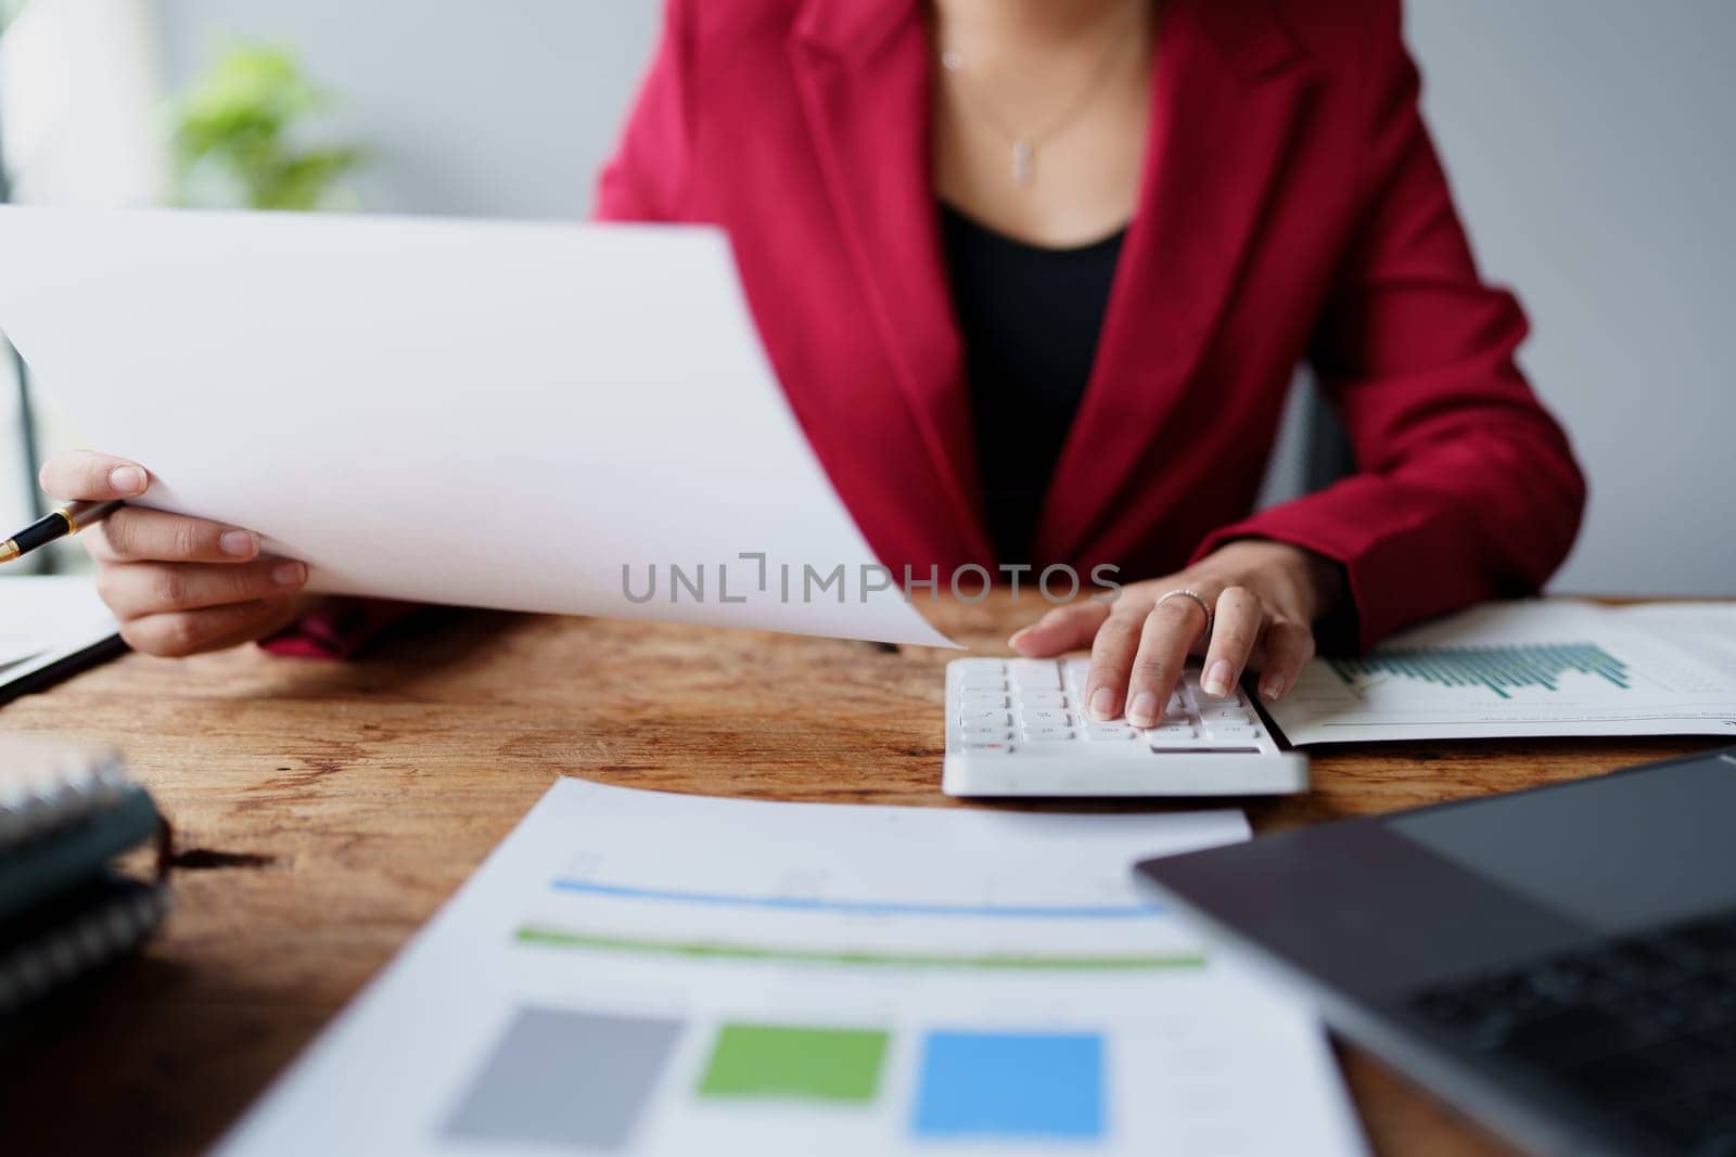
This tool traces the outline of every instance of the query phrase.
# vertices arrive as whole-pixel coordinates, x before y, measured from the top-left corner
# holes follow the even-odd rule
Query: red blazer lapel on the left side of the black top
[[[809,135],[849,260],[962,534],[979,513],[963,357],[941,260],[929,154],[930,62],[915,0],[809,0],[790,40]],[[887,448],[894,453],[898,448]]]

